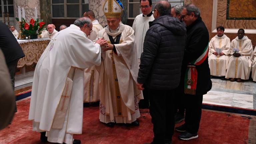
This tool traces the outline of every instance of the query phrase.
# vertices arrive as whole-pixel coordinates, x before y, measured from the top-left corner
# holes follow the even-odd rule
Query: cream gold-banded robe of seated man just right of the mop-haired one
[[[240,57],[234,57],[233,49],[239,49]],[[242,39],[236,37],[231,42],[230,58],[225,78],[249,79],[252,68],[253,47],[251,40],[244,36]]]

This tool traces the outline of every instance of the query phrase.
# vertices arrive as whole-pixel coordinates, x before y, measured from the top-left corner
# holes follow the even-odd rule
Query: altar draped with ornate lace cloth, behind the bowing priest
[[[35,66],[50,42],[49,38],[17,40],[25,57],[17,64],[15,90],[32,86]]]

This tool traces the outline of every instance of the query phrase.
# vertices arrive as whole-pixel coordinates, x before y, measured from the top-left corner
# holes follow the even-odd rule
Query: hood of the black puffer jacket
[[[149,27],[159,24],[166,27],[176,35],[186,35],[185,24],[180,22],[178,18],[172,17],[171,15],[160,16],[154,21],[149,23]]]

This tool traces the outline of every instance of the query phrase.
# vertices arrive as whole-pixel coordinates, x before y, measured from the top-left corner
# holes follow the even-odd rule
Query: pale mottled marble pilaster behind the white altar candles
[[[14,17],[18,17],[18,6],[25,9],[25,20],[30,21],[35,18],[35,7],[37,8],[37,17],[40,19],[40,0],[14,0]]]

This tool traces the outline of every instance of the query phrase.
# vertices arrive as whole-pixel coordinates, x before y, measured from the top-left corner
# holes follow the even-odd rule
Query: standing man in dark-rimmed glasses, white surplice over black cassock
[[[138,63],[140,64],[140,55],[143,52],[143,43],[147,30],[149,29],[149,22],[155,18],[152,12],[152,0],[140,0],[140,10],[142,14],[137,15],[134,19],[132,29],[134,30],[135,40],[134,46],[137,49]],[[148,108],[149,100],[147,96],[147,89],[143,90],[144,99],[140,101],[140,108]]]

